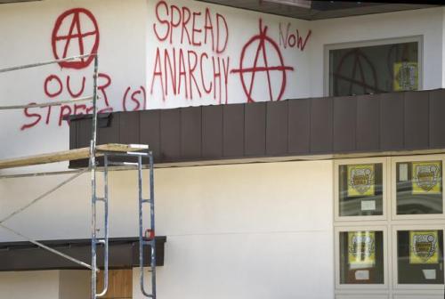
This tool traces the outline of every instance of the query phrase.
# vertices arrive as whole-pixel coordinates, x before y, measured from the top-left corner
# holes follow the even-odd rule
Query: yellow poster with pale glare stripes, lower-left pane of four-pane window
[[[376,264],[376,233],[374,231],[348,232],[348,262],[352,269]]]

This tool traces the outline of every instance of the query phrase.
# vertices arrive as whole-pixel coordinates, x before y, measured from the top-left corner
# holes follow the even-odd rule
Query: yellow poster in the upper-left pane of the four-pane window
[[[348,166],[348,197],[366,197],[375,194],[374,165]]]

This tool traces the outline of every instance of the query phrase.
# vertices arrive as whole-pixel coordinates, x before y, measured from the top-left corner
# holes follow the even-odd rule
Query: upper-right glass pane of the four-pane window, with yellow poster
[[[441,214],[441,161],[396,164],[397,214]]]

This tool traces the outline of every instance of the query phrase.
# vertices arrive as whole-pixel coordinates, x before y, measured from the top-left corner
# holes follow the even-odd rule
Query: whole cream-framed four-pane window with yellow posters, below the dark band
[[[444,163],[443,154],[335,162],[336,298],[443,297]]]

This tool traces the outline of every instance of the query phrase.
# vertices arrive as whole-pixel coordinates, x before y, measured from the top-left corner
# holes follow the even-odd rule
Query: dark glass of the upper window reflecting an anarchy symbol
[[[329,51],[329,95],[418,89],[418,42]]]

